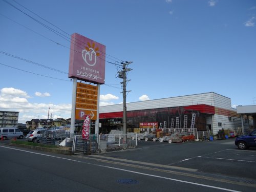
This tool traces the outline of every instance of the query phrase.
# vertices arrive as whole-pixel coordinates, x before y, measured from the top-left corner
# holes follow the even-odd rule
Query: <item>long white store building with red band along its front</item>
[[[230,98],[214,92],[131,102],[126,103],[126,108],[127,132],[153,127],[190,128],[193,116],[198,131],[217,134],[221,129],[242,126],[240,115],[231,107]],[[122,119],[123,104],[101,106],[99,132],[109,133],[114,129],[122,131]]]

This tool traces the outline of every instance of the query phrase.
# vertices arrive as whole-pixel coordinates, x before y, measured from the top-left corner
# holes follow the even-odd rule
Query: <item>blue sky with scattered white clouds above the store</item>
[[[256,104],[254,0],[1,0],[0,110],[19,122],[48,108],[71,117],[70,41],[35,19],[105,45],[106,61],[133,61],[127,102],[216,92],[234,108]],[[100,105],[122,102],[120,70],[105,63]]]

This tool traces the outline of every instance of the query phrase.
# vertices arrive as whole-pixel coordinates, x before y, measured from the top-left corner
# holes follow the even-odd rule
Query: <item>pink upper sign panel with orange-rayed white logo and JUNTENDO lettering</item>
[[[105,51],[104,45],[77,33],[72,34],[69,78],[104,84]]]

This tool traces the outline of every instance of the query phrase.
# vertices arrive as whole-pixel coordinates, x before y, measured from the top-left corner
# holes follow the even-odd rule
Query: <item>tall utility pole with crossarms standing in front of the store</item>
[[[123,70],[121,72],[119,72],[119,78],[123,79],[123,82],[121,82],[123,84],[123,133],[126,134],[126,93],[130,92],[130,91],[126,91],[126,82],[130,81],[130,80],[126,80],[126,72],[131,71],[132,69],[127,68],[127,66],[129,64],[133,63],[132,61],[125,61],[125,62],[121,62],[121,64],[123,65]]]

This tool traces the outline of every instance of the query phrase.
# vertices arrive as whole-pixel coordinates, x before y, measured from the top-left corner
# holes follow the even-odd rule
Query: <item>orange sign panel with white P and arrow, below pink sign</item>
[[[98,87],[78,82],[76,91],[75,119],[84,119],[85,115],[90,115],[92,120],[96,120]]]

